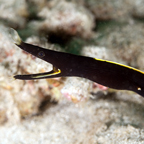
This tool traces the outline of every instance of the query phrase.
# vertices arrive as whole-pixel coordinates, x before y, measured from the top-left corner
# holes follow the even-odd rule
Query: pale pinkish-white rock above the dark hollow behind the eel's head
[[[59,41],[72,36],[90,38],[94,28],[93,15],[76,3],[58,1],[51,9],[47,6],[39,16],[45,20],[40,23],[39,30]]]

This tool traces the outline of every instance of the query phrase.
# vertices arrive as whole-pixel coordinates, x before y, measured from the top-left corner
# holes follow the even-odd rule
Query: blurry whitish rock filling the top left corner
[[[1,0],[0,20],[14,28],[23,28],[28,17],[27,4],[25,0]]]

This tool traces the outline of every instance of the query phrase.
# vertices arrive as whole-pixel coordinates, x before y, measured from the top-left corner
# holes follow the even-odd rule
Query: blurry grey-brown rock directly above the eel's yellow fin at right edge
[[[104,26],[102,28],[104,29]],[[144,53],[144,31],[142,29],[143,23],[137,23],[134,20],[128,23],[116,23],[115,26],[107,27],[104,33],[101,32],[96,42],[99,47],[106,47],[106,52],[110,54],[108,60],[143,70],[143,65],[140,66],[137,60]]]

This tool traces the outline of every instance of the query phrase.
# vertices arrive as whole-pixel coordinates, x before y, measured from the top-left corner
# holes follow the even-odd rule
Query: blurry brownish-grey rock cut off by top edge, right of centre
[[[127,21],[131,19],[134,0],[83,0],[86,7],[94,14],[96,20]]]

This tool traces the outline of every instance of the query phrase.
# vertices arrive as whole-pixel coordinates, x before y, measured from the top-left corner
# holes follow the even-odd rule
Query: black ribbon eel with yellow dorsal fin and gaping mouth
[[[22,50],[53,65],[45,73],[15,75],[15,79],[34,80],[55,77],[83,77],[117,90],[130,90],[144,97],[144,72],[112,61],[58,52],[23,42],[13,29],[15,44]]]

